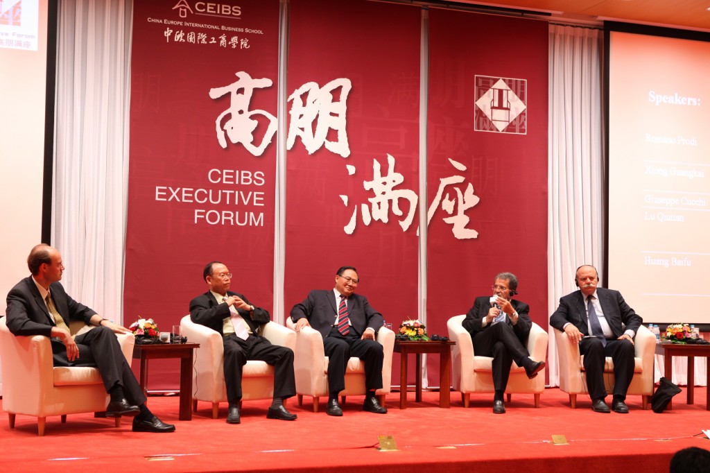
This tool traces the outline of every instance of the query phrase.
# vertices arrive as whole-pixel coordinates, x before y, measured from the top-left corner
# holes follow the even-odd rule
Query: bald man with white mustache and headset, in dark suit
[[[594,266],[579,266],[574,283],[579,290],[559,300],[550,325],[564,331],[570,343],[579,343],[594,412],[609,412],[604,401],[603,374],[606,357],[611,357],[614,364],[612,408],[614,412],[626,414],[628,407],[624,401],[634,368],[633,337],[643,320],[618,290],[597,287],[599,273]]]

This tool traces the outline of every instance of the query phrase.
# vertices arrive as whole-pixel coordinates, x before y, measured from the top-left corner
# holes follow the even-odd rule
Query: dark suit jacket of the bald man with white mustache
[[[621,337],[625,330],[633,330],[634,333],[638,330],[643,319],[628,306],[618,290],[596,288],[596,295],[599,296],[599,305],[601,305],[604,318],[611,327],[614,337]],[[576,290],[574,293],[560,298],[559,307],[550,317],[550,325],[557,330],[564,330],[562,327],[567,322],[574,324],[584,335],[589,335],[586,303],[581,290]],[[623,327],[622,324],[626,327]]]

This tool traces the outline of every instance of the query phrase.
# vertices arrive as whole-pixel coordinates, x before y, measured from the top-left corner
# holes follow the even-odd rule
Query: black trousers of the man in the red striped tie
[[[325,356],[328,357],[328,391],[331,396],[345,388],[345,369],[350,357],[358,357],[365,362],[365,388],[368,391],[382,387],[382,345],[376,340],[363,340],[350,327],[348,335],[341,335],[337,327],[332,327],[323,339]]]

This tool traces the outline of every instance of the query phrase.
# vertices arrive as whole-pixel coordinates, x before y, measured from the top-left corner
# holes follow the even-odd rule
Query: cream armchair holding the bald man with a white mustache
[[[577,394],[587,393],[584,357],[579,356],[579,344],[572,344],[564,332],[555,330],[557,357],[559,359],[559,389],[569,394],[569,403],[577,408]],[[640,395],[644,409],[648,408],[648,399],[653,395],[653,354],[656,348],[656,337],[648,328],[638,327],[634,338],[635,366],[633,379],[628,386],[627,394]],[[614,385],[614,364],[611,357],[606,357],[604,366],[604,386],[611,393]]]

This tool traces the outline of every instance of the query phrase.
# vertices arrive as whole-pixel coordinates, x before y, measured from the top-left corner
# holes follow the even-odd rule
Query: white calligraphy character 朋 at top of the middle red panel
[[[286,144],[288,149],[293,148],[296,137],[300,136],[308,154],[325,145],[329,151],[343,158],[350,156],[346,131],[346,100],[351,87],[349,79],[336,79],[323,87],[318,87],[315,82],[307,82],[296,89],[288,97],[288,102],[293,102],[289,112],[291,122]],[[334,100],[336,94],[339,96],[338,100]],[[330,130],[337,132],[337,141],[327,139]]]

